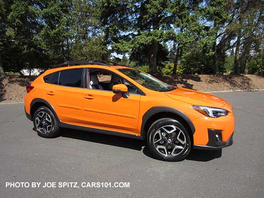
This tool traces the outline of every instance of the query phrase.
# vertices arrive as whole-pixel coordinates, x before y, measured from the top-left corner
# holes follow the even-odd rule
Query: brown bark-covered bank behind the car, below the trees
[[[158,75],[158,79],[178,87],[199,91],[238,89],[264,89],[264,77],[257,75]],[[26,95],[25,87],[35,77],[7,76],[0,81],[0,102],[21,101]]]

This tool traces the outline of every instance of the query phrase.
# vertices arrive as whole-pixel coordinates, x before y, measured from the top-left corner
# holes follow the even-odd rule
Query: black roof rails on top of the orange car
[[[51,67],[52,69],[54,68],[59,68],[59,67],[64,67],[64,66],[82,66],[82,65],[101,65],[101,66],[126,66],[126,65],[120,65],[111,61],[102,61],[102,60],[91,60],[88,62],[85,61],[66,61],[62,64],[55,65]],[[127,66],[131,67],[131,66]]]

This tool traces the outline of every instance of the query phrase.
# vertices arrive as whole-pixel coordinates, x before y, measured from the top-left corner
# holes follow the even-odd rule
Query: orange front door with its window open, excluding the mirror
[[[112,92],[124,79],[107,70],[89,70],[89,88],[84,96],[85,124],[106,130],[134,133],[137,128],[140,94],[128,98]],[[134,89],[133,89],[134,90]]]

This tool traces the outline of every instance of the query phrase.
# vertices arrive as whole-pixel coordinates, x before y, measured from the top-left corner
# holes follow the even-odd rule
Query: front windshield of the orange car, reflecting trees
[[[118,71],[122,72],[123,74],[127,75],[128,77],[132,78],[134,81],[139,83],[145,88],[149,88],[154,91],[171,91],[176,89],[177,87],[167,85],[149,74],[146,74],[142,71],[137,69],[117,69]]]

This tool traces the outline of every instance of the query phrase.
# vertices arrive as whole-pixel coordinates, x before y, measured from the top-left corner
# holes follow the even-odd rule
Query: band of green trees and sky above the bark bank
[[[264,75],[264,0],[0,0],[1,70],[111,59]]]

